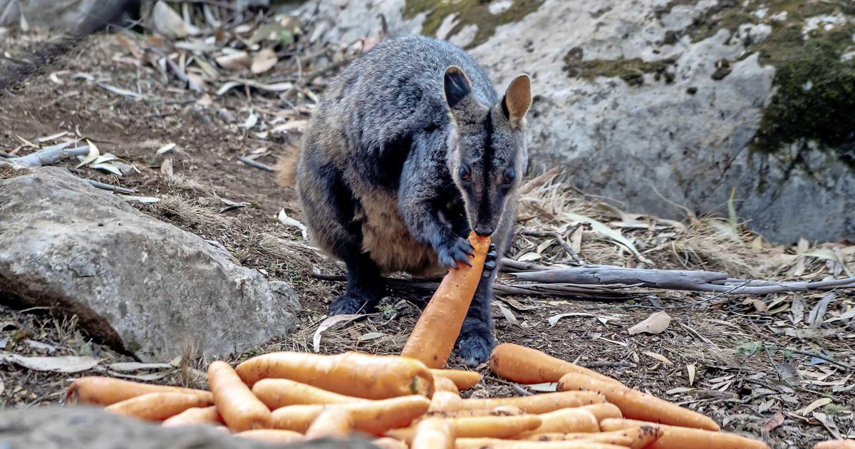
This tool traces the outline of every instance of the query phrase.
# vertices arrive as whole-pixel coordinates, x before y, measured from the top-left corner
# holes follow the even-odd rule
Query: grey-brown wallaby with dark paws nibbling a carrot
[[[530,104],[528,75],[499,99],[471,56],[422,36],[382,41],[330,81],[298,158],[280,160],[280,183],[291,185],[296,172],[310,239],[347,266],[331,314],[374,310],[381,274],[439,275],[469,263],[475,230],[493,245],[456,349],[470,366],[486,361],[496,261],[510,243],[528,162]]]

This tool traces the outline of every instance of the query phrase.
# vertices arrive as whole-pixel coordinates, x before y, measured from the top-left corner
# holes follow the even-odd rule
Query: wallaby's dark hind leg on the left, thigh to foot
[[[347,266],[347,287],[330,304],[330,315],[374,311],[383,296],[380,269],[362,251],[362,224],[358,207],[339,169],[307,161],[299,174],[298,190],[315,244],[333,253]]]

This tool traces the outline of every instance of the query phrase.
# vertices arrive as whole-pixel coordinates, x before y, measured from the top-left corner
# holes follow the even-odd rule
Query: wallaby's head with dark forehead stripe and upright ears
[[[510,82],[496,104],[484,104],[456,66],[445,69],[445,101],[451,115],[448,168],[463,193],[469,225],[479,235],[498,227],[528,164],[524,129],[531,105],[531,80]]]

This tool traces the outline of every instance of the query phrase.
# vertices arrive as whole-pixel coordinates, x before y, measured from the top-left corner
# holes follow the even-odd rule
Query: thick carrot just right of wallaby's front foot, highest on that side
[[[567,373],[578,373],[622,385],[607,375],[513,343],[502,343],[493,348],[490,354],[490,369],[499,377],[525,384],[557,382]]]

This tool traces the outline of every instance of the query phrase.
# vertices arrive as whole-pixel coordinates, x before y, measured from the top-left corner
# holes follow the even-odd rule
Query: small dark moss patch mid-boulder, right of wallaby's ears
[[[564,72],[570,77],[581,77],[593,80],[598,76],[620,78],[629,86],[640,86],[644,83],[645,74],[655,74],[655,80],[665,80],[670,83],[674,74],[669,68],[675,64],[675,59],[667,58],[658,61],[642,61],[640,58],[583,61],[580,47],[570,49],[564,56]]]

